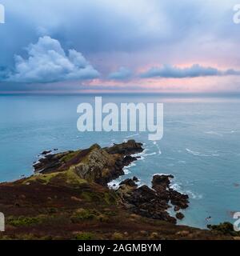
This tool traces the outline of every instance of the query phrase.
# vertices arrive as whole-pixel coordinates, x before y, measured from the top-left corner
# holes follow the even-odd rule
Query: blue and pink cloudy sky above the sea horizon
[[[240,92],[240,0],[0,4],[0,93]]]

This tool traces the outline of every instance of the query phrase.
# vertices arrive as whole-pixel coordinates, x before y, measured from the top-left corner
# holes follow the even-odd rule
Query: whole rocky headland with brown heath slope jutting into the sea
[[[128,178],[117,190],[107,184],[137,161],[142,143],[130,140],[102,148],[42,152],[34,174],[0,184],[0,211],[6,232],[0,239],[232,239],[210,226],[176,225],[189,198],[170,187],[172,175],[154,175],[152,186]],[[170,216],[169,209],[175,215]],[[222,232],[224,230],[224,232]],[[233,235],[234,234],[234,235]]]

